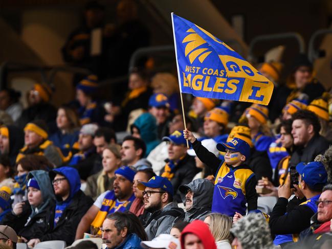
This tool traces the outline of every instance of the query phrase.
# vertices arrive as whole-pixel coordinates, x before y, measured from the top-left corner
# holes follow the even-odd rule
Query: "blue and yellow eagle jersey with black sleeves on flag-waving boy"
[[[192,144],[198,158],[215,173],[212,212],[234,216],[257,209],[256,177],[246,164],[232,167],[208,151],[200,141]]]

